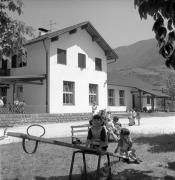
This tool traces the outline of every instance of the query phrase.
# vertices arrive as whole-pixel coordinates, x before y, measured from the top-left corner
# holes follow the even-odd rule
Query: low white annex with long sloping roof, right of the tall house
[[[130,108],[144,110],[165,110],[169,96],[155,90],[150,84],[122,77],[115,71],[108,73],[108,110],[127,111]],[[160,101],[161,100],[161,101]]]

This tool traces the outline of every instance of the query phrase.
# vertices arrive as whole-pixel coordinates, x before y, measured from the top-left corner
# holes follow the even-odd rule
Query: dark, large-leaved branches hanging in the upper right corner
[[[152,30],[165,64],[175,69],[175,0],[135,0],[141,19],[154,19]]]

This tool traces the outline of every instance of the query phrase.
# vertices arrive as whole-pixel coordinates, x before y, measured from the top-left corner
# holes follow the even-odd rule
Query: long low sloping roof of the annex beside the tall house
[[[115,72],[108,73],[108,85],[116,85],[116,86],[124,86],[124,87],[132,87],[143,92],[152,94],[156,97],[169,97],[167,94],[162,93],[160,90],[154,90],[155,87],[141,81],[140,79],[132,78],[132,77],[124,77],[120,76]]]

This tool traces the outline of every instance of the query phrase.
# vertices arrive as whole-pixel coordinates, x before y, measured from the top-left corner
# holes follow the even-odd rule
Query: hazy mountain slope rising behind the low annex
[[[119,55],[119,59],[116,63],[108,65],[108,73],[115,72],[116,77],[122,75],[126,78],[138,78],[159,89],[166,86],[169,77],[175,78],[175,71],[165,66],[154,39],[121,46],[115,51]]]

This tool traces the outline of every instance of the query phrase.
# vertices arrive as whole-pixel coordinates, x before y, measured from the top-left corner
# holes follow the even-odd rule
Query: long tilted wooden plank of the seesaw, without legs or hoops
[[[42,137],[31,136],[31,135],[27,135],[27,134],[24,134],[24,133],[8,132],[7,136],[12,136],[12,137],[16,137],[16,138],[22,138],[22,139],[28,139],[28,140],[38,141],[38,142],[52,144],[52,145],[65,146],[65,147],[69,147],[69,148],[80,149],[80,150],[83,150],[83,151],[89,151],[89,152],[92,152],[92,153],[97,153],[97,154],[102,154],[102,155],[109,154],[109,156],[113,156],[113,157],[117,157],[117,158],[123,158],[123,156],[120,156],[119,154],[113,154],[113,153],[107,152],[107,151],[99,151],[99,150],[95,150],[95,149],[92,149],[92,148],[87,148],[85,146],[66,143],[66,142],[57,141],[57,140],[53,140],[53,139],[46,139],[46,138],[42,138]]]

